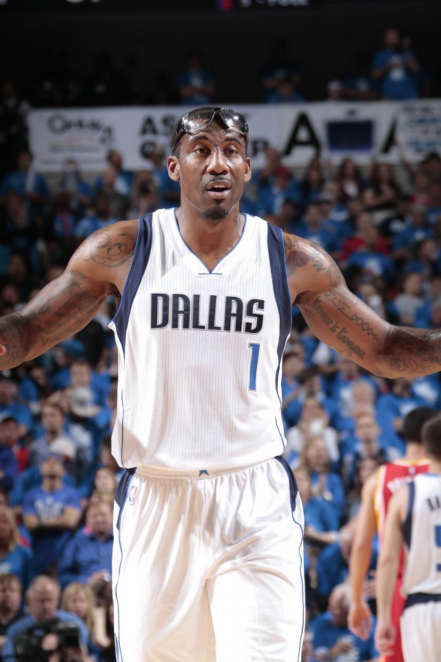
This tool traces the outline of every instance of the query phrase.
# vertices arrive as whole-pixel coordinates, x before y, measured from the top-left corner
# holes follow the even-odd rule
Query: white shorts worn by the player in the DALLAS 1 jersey
[[[127,470],[114,510],[118,661],[300,661],[295,491],[280,459],[209,474]]]

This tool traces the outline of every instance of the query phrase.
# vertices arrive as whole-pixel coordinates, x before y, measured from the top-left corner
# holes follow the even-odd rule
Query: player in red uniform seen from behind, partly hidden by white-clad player
[[[349,557],[349,579],[351,583],[351,605],[349,608],[349,628],[367,639],[371,635],[371,610],[363,596],[363,584],[371,560],[372,539],[376,531],[380,537],[380,547],[384,534],[384,518],[389,500],[404,483],[416,474],[426,472],[429,464],[421,443],[421,429],[424,423],[435,416],[435,410],[417,407],[411,410],[403,420],[402,436],[406,441],[404,457],[395,462],[382,465],[365,483],[362,490],[362,502],[356,521],[356,533]],[[400,615],[404,607],[400,588],[402,584],[402,563],[396,576],[396,590],[393,596],[393,619],[396,641],[391,662],[402,662],[400,639]]]

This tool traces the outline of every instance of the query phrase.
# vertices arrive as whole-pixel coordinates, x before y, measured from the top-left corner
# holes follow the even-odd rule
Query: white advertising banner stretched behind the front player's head
[[[65,108],[32,110],[30,147],[40,172],[57,172],[65,159],[75,159],[83,172],[105,166],[110,149],[121,152],[129,170],[149,167],[154,146],[170,153],[174,122],[190,109],[183,106],[130,108]],[[401,155],[420,161],[441,152],[441,101],[412,103],[301,103],[238,105],[249,123],[249,157],[265,163],[274,146],[286,165],[302,167],[318,152],[336,163],[353,157],[366,165],[373,157],[398,162]]]

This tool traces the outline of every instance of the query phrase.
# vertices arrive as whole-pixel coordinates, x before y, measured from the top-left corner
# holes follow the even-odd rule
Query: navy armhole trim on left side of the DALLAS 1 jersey
[[[121,342],[121,347],[125,353],[125,333],[129,323],[130,311],[134,301],[139,284],[144,275],[147,263],[152,250],[152,218],[153,214],[147,214],[142,219],[138,219],[138,237],[133,256],[132,266],[130,267],[127,281],[125,281],[121,304],[114,317],[116,334]]]

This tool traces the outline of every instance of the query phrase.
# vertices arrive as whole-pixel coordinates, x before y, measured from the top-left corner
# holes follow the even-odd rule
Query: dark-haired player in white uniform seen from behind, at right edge
[[[376,645],[389,660],[395,636],[393,577],[404,541],[402,590],[407,600],[400,619],[404,662],[441,660],[441,416],[425,423],[422,443],[429,473],[416,476],[392,497],[377,571]]]

